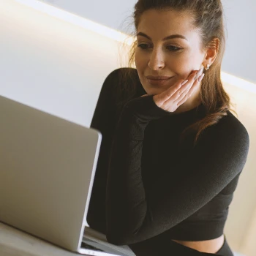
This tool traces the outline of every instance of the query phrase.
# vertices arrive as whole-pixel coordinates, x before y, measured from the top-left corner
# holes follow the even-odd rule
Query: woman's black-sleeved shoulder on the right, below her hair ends
[[[217,124],[203,129],[197,143],[189,154],[192,161],[203,165],[228,167],[232,173],[238,174],[243,170],[249,153],[249,134],[244,124],[227,111]]]

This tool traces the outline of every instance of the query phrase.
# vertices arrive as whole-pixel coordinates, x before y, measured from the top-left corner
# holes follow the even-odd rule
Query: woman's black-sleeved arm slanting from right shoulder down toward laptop
[[[119,245],[134,244],[178,225],[205,206],[241,173],[248,150],[248,132],[232,117],[222,118],[218,124],[208,127],[195,148],[181,156],[181,162],[172,165],[170,161],[165,165],[162,175],[154,181],[150,195],[143,199],[141,193],[133,192],[132,197],[132,191],[129,191],[129,201],[134,200],[135,203],[129,214],[117,217],[118,222],[113,220],[108,241]],[[136,169],[137,173],[140,168]],[[184,175],[177,176],[176,173]],[[136,179],[136,184],[130,185],[131,189],[136,185],[138,190],[138,184]],[[123,204],[122,208],[125,207],[128,206]],[[115,217],[120,215],[116,208],[117,213],[112,213]]]

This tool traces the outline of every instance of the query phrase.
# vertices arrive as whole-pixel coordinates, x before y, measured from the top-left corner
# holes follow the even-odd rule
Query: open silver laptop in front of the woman
[[[86,222],[102,135],[0,96],[0,222],[85,255],[135,255]]]

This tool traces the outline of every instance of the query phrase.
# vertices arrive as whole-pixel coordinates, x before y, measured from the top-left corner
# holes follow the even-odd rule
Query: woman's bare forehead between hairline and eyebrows
[[[182,34],[191,37],[197,33],[193,24],[192,16],[188,12],[174,10],[147,10],[143,12],[138,24],[138,32],[143,32],[150,37],[165,37],[169,34]]]

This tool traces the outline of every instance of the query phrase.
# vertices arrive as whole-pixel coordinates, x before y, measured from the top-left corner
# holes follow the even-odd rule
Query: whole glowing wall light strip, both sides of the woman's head
[[[80,26],[84,29],[94,31],[97,34],[101,34],[102,36],[108,37],[110,39],[114,39],[118,42],[125,42],[127,45],[132,45],[132,42],[134,42],[135,40],[135,38],[128,37],[127,34],[116,31],[115,29],[110,29],[107,26],[103,26],[99,23],[95,23],[94,21],[87,20],[86,18],[82,18],[78,15],[72,14],[71,12],[61,10],[58,7],[54,7],[50,4],[43,3],[42,1],[38,1],[38,0],[15,0],[15,1],[18,1],[21,4],[25,4],[28,7],[32,7],[34,10],[44,12],[55,18],[59,18],[61,20],[72,23],[76,26]],[[246,81],[241,78],[237,78],[236,76],[227,74],[226,72],[222,72],[222,82],[229,83],[232,86],[236,86],[238,88],[241,88],[256,94],[255,83],[250,83],[249,81]]]

